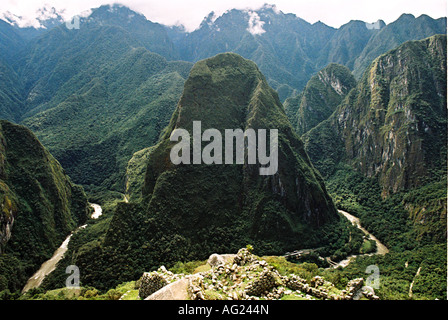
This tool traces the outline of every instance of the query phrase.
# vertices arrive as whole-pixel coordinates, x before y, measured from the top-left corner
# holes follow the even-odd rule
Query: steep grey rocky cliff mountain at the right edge
[[[383,195],[418,187],[446,159],[446,101],[446,36],[407,42],[371,64],[328,122],[305,138],[307,151],[316,162],[328,156],[316,152],[325,128],[345,151],[337,160],[378,176]]]

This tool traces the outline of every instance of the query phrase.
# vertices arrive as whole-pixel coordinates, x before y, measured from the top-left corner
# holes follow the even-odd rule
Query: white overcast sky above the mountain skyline
[[[222,14],[231,8],[257,9],[264,3],[275,4],[284,13],[294,13],[310,23],[320,20],[335,28],[354,19],[365,22],[382,19],[390,23],[402,13],[427,14],[433,18],[447,16],[446,0],[1,0],[0,14],[9,11],[18,16],[35,17],[37,9],[49,6],[65,10],[64,17],[69,18],[111,3],[124,4],[153,22],[183,24],[190,31],[211,11]]]

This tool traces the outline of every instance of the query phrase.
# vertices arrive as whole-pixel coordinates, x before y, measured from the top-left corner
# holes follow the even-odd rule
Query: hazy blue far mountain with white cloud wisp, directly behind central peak
[[[305,86],[315,72],[312,57],[334,31],[323,23],[312,25],[265,6],[258,11],[230,10],[216,20],[211,13],[198,30],[178,36],[175,45],[188,61],[228,51],[251,59],[283,100]]]

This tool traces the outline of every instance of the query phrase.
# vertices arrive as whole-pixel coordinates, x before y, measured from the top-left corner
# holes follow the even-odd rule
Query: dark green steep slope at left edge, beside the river
[[[83,189],[28,129],[2,120],[0,139],[0,291],[16,291],[90,209]]]

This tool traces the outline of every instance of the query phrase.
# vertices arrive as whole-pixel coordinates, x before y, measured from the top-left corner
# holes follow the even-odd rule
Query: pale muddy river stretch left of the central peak
[[[103,214],[103,209],[101,208],[100,205],[94,203],[91,203],[90,206],[94,209],[91,218],[98,219]],[[39,286],[42,284],[42,281],[44,281],[45,277],[56,269],[56,265],[64,257],[64,254],[68,249],[68,244],[70,243],[70,239],[73,236],[73,234],[75,234],[78,230],[84,229],[85,227],[87,227],[87,225],[79,227],[64,240],[61,246],[55,251],[53,256],[49,260],[45,261],[40,266],[39,270],[37,270],[36,273],[34,273],[33,276],[28,279],[28,282],[23,288],[22,293],[25,293],[30,289],[39,288]]]

